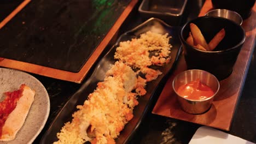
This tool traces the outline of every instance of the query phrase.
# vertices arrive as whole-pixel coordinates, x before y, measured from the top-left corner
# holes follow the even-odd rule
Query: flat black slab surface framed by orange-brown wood
[[[76,73],[94,56],[129,3],[31,1],[0,29],[0,57]],[[10,13],[15,6],[16,1],[0,1],[0,20],[3,12]]]

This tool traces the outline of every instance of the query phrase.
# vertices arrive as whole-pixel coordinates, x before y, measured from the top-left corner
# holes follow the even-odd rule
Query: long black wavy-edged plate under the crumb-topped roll
[[[83,105],[84,101],[88,98],[88,95],[94,91],[97,87],[99,81],[103,81],[106,71],[109,69],[109,64],[115,62],[114,52],[120,41],[131,40],[132,38],[139,37],[140,34],[147,31],[157,31],[161,34],[169,33],[172,35],[170,39],[170,44],[173,46],[171,48],[171,61],[161,67],[159,70],[162,71],[162,75],[158,79],[147,83],[147,93],[143,97],[139,98],[139,105],[134,109],[134,117],[129,123],[125,125],[123,131],[121,131],[118,139],[115,141],[117,143],[126,143],[128,142],[132,135],[135,133],[139,124],[141,124],[144,115],[146,115],[150,104],[152,103],[153,97],[158,97],[154,95],[156,88],[158,87],[161,80],[164,80],[164,77],[172,70],[173,65],[177,62],[178,57],[181,53],[181,43],[178,38],[179,27],[168,26],[165,22],[159,19],[149,19],[141,25],[133,28],[131,31],[124,33],[119,37],[115,45],[109,50],[109,52],[101,59],[97,67],[94,70],[94,73],[90,78],[83,84],[83,86],[78,90],[77,93],[72,95],[71,99],[68,100],[65,106],[63,106],[60,113],[56,116],[51,126],[44,134],[40,143],[53,143],[57,140],[56,134],[61,130],[63,124],[72,120],[72,113],[77,109],[77,105]]]

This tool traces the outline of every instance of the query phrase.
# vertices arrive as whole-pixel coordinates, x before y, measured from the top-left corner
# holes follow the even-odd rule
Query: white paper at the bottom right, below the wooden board
[[[241,139],[240,137],[230,135],[224,133],[223,131],[213,129],[210,127],[200,127],[196,130],[196,133],[190,140],[189,144],[200,144],[200,143],[207,143],[207,144],[233,144],[233,143],[241,143],[241,144],[253,144],[253,142],[246,141]]]

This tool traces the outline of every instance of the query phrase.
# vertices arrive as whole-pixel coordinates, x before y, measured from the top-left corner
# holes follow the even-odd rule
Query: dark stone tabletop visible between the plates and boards
[[[197,17],[202,7],[203,1],[190,0],[181,25],[190,19]],[[121,26],[119,34],[137,26],[143,22],[139,17],[138,11],[133,11],[123,26]],[[104,52],[103,52],[104,54]],[[102,55],[103,55],[102,54]],[[253,53],[251,64],[249,65],[248,74],[245,85],[236,107],[236,113],[232,121],[230,131],[226,133],[241,137],[242,139],[256,143],[256,52]],[[94,65],[95,67],[95,65]],[[71,96],[78,91],[82,84],[67,82],[62,80],[51,79],[49,77],[34,75],[49,93],[50,97],[50,115],[45,124],[44,129],[38,135],[34,143],[38,143],[45,131],[49,128],[51,122],[57,113],[62,109]],[[90,73],[88,74],[90,75]],[[85,78],[84,82],[88,79]],[[161,84],[161,87],[164,83]],[[255,88],[255,89],[254,89]],[[160,94],[161,90],[155,94]],[[154,106],[154,105],[153,105]],[[132,137],[130,143],[188,143],[194,135],[197,128],[202,125],[190,122],[184,122],[177,119],[162,117],[151,113],[153,106],[150,108],[142,124]]]

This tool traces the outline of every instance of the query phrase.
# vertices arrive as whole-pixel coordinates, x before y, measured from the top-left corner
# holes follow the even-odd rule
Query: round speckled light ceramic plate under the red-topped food
[[[28,112],[24,125],[12,141],[0,141],[0,143],[32,143],[43,129],[50,112],[49,95],[40,81],[30,74],[22,71],[0,68],[0,99],[4,92],[12,92],[25,83],[36,91],[34,101]]]

